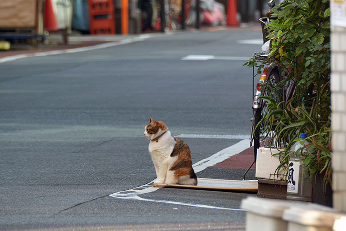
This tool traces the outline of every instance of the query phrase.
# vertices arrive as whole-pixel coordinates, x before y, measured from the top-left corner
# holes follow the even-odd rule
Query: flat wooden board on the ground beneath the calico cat
[[[197,178],[197,180],[197,185],[157,184],[156,187],[241,192],[257,192],[258,190],[257,180],[222,180],[209,178]]]

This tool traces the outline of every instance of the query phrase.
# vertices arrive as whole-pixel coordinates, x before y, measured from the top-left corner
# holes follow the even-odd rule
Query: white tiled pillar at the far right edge
[[[332,26],[330,36],[333,207],[346,212],[346,22]]]

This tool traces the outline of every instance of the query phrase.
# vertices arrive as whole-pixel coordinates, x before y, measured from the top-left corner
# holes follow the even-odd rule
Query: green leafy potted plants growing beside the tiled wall
[[[267,101],[266,113],[260,122],[268,138],[280,153],[279,168],[287,168],[289,150],[299,136],[307,133],[310,154],[305,156],[305,166],[311,178],[324,174],[324,183],[331,182],[331,131],[330,131],[330,24],[329,1],[285,0],[273,9],[277,20],[271,20],[268,39],[271,50],[268,60],[259,62],[256,57],[244,65],[257,67],[278,64],[286,78],[275,86],[264,87],[274,92],[284,91],[288,81],[295,84],[290,99],[262,96]],[[275,100],[276,99],[276,100]],[[279,99],[279,100],[277,100]]]

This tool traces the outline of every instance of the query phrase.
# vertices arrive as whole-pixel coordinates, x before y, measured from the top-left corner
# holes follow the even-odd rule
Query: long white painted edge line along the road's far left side
[[[93,46],[87,46],[87,47],[79,47],[79,48],[71,48],[71,49],[65,49],[65,50],[55,50],[55,51],[46,51],[46,52],[36,52],[31,54],[22,54],[22,55],[13,55],[8,56],[4,58],[0,58],[0,63],[10,62],[18,59],[28,58],[28,57],[40,57],[40,56],[47,56],[47,55],[58,55],[58,54],[68,54],[68,53],[77,53],[77,52],[83,52],[83,51],[91,51],[96,49],[102,49],[102,48],[108,48],[118,45],[124,45],[128,43],[133,43],[136,41],[143,41],[147,38],[150,38],[150,36],[138,36],[131,39],[125,39],[122,41],[117,42],[108,42]]]

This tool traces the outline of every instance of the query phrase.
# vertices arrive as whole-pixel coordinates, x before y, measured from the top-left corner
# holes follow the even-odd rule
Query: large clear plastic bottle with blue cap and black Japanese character
[[[289,153],[287,200],[311,201],[312,184],[304,168],[304,157],[301,152],[308,152],[305,133],[300,133],[300,141],[293,144]],[[301,144],[303,143],[303,144]],[[298,151],[299,150],[299,151]]]

